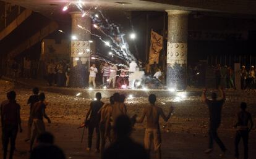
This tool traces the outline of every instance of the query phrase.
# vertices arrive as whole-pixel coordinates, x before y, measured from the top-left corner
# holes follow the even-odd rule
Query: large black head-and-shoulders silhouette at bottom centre
[[[116,141],[113,142],[103,153],[103,159],[144,159],[149,158],[142,145],[130,139],[132,123],[126,115],[118,116],[114,122],[114,133]]]

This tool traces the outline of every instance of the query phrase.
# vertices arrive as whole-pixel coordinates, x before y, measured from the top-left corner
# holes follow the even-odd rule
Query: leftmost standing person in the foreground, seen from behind
[[[22,132],[20,120],[20,105],[17,104],[14,91],[7,93],[8,102],[1,105],[1,124],[2,124],[2,145],[4,149],[3,158],[7,158],[7,149],[9,141],[11,141],[11,149],[9,158],[12,159],[15,150],[15,140],[18,129]]]

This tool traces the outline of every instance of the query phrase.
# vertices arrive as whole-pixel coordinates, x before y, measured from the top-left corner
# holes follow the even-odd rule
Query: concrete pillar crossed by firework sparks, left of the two
[[[83,88],[88,85],[88,70],[90,65],[90,33],[91,19],[82,12],[70,12],[72,18],[72,33],[70,44],[70,87]],[[78,25],[85,28],[82,30]],[[87,31],[86,31],[87,30]]]

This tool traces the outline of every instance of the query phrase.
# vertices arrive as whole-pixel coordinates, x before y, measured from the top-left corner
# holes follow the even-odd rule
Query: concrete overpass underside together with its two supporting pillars
[[[69,2],[65,0],[6,0],[12,4],[17,4],[34,12],[43,14],[46,17],[57,19],[62,14],[62,7]],[[166,83],[169,88],[176,87],[178,89],[186,88],[186,67],[187,67],[187,32],[188,32],[188,15],[191,12],[204,11],[211,14],[220,15],[238,15],[242,17],[254,16],[256,14],[256,1],[252,0],[98,0],[83,1],[85,9],[97,6],[100,10],[155,10],[168,12],[168,46],[167,46],[167,68]],[[82,24],[87,30],[91,30],[90,18],[82,18],[81,12],[75,7],[69,9],[72,17],[72,34],[78,36],[79,41],[85,44],[90,40],[88,33],[81,32],[77,24]],[[77,41],[71,41],[75,44]],[[74,47],[74,49],[78,49]],[[72,49],[71,49],[72,50]],[[74,51],[71,51],[74,52]],[[79,53],[80,51],[77,51]],[[77,65],[75,59],[79,55],[71,55],[73,67]],[[82,57],[82,61],[86,64],[90,61],[90,55]],[[70,82],[72,86],[80,86],[79,71],[72,70]]]

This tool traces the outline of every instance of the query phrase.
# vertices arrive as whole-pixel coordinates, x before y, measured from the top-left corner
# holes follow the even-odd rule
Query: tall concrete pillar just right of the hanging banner
[[[168,12],[168,46],[166,86],[184,90],[187,87],[187,35],[188,15],[186,10]]]

